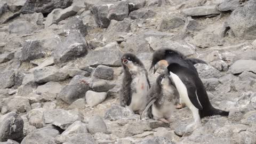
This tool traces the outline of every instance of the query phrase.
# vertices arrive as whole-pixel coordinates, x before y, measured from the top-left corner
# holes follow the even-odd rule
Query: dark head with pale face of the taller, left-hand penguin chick
[[[143,63],[140,61],[140,59],[132,53],[125,53],[121,57],[121,63],[123,67],[128,69],[135,69],[138,66],[143,66]]]

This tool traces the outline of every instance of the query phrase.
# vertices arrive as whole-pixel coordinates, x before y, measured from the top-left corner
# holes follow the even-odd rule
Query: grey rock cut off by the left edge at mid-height
[[[15,73],[13,70],[5,71],[0,73],[0,88],[5,89],[5,88],[10,88],[14,85],[14,77]]]

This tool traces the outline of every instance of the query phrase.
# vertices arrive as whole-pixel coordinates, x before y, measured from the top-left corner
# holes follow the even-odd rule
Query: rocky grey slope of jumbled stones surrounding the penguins
[[[256,1],[2,0],[0,143],[256,143]],[[214,107],[163,124],[119,106],[120,57],[162,47],[196,64]],[[149,71],[154,83],[158,74]]]

